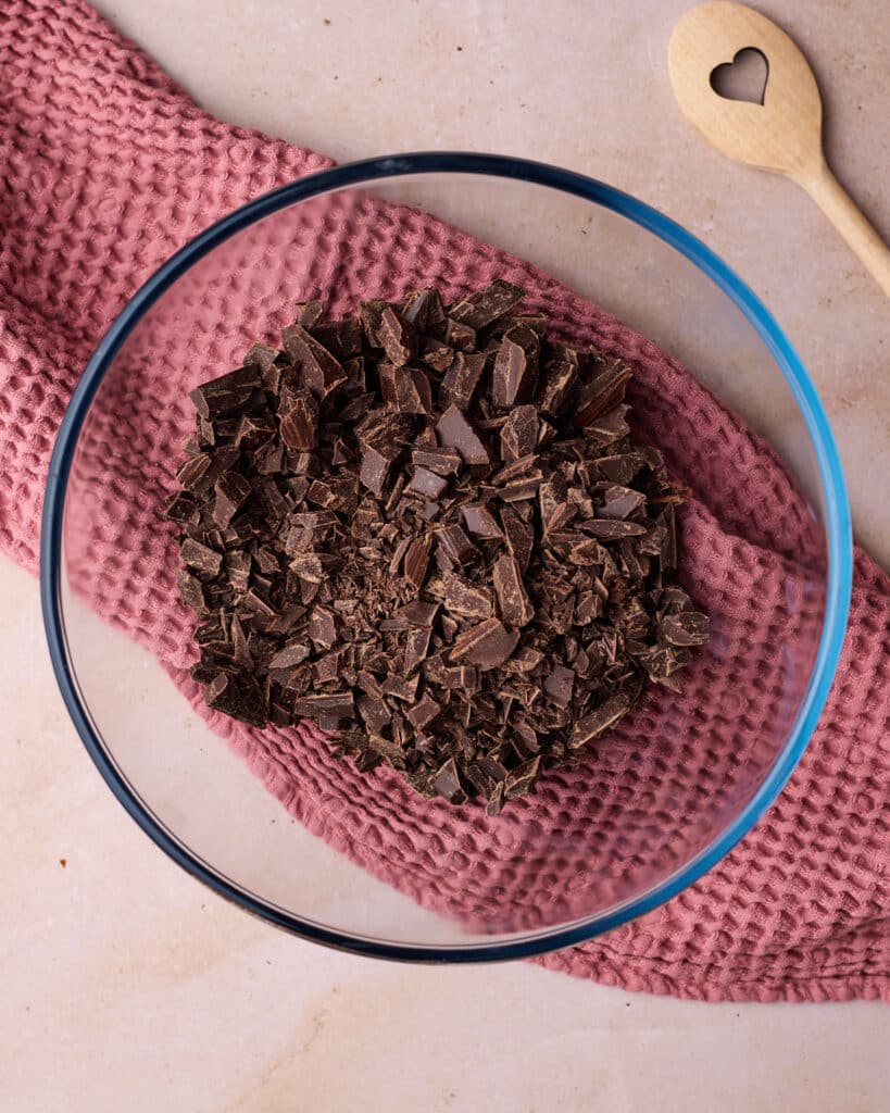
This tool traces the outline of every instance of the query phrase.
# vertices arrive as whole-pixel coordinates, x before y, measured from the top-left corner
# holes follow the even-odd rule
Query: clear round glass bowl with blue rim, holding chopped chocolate
[[[577,299],[556,314],[557,333],[633,348],[641,437],[685,430],[685,454],[666,456],[695,495],[682,518],[683,579],[711,611],[712,638],[690,670],[692,697],[654,693],[580,766],[548,771],[498,817],[424,800],[392,770],[359,776],[297,731],[208,723],[186,672],[191,621],[175,587],[175,529],[161,516],[192,420],[187,392],[237,366],[255,339],[275,342],[295,302],[322,297],[339,315],[432,279],[454,295],[481,285],[486,265],[527,279],[532,303],[550,308],[553,276],[708,388],[678,377],[670,361],[653,378],[652,344]],[[713,396],[762,440],[726,441],[734,418]],[[780,461],[788,477],[777,479]],[[666,900],[726,854],[813,730],[841,648],[851,563],[824,411],[772,316],[725,264],[591,178],[513,158],[418,154],[267,194],[137,293],[59,432],[41,574],[77,729],[171,858],[300,936],[467,962],[580,943]]]

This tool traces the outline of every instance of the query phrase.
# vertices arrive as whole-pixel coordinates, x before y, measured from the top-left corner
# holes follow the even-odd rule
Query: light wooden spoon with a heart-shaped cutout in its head
[[[767,61],[762,102],[714,92],[713,71],[751,48]],[[825,162],[819,87],[785,32],[744,4],[703,3],[674,28],[668,65],[680,108],[704,138],[803,186],[890,297],[890,250]]]

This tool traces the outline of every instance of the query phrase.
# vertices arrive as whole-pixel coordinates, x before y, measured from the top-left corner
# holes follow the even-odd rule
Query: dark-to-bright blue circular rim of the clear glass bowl
[[[328,190],[418,174],[469,174],[516,178],[585,198],[647,229],[694,263],[730,297],[769,348],[787,378],[812,440],[825,498],[828,585],[825,617],[807,691],[793,727],[769,774],[743,811],[685,866],[643,895],[596,915],[550,930],[491,944],[424,946],[353,936],[300,919],[246,893],[178,843],[151,815],[117,768],[81,700],[69,659],[61,611],[62,516],[68,477],[81,426],[99,385],[142,314],[198,259],[263,217]],[[50,462],[40,545],[43,622],[56,679],[90,757],[111,791],[144,831],[184,869],[247,912],[304,938],[380,958],[419,962],[482,962],[525,958],[573,946],[650,912],[695,881],[753,827],[779,795],[803,754],[824,706],[838,666],[852,583],[850,510],[840,457],[828,417],[800,357],[756,295],[700,239],[643,201],[595,178],[543,162],[461,151],[424,151],[349,162],[281,186],[211,225],[157,270],[127,304],[96,348],[75,390]]]

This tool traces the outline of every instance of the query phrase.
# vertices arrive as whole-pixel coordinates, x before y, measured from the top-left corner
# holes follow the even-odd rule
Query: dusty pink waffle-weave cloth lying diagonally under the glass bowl
[[[214,120],[80,0],[7,0],[0,81],[0,545],[33,570],[53,436],[103,329],[214,219],[329,161]],[[738,416],[655,345],[534,267],[433,217],[368,199],[338,203],[326,232],[309,265],[319,283],[336,269],[334,311],[337,298],[354,305],[367,289],[396,296],[436,280],[454,296],[498,275],[521,283],[563,335],[633,366],[635,433],[659,443],[693,491],[682,515],[684,582],[724,631],[731,682],[718,690],[701,654],[681,697],[655,696],[577,770],[548,775],[496,826],[472,808],[419,800],[389,770],[359,776],[330,758],[312,727],[257,732],[208,712],[188,678],[191,620],[176,595],[176,545],[159,512],[175,483],[170,445],[189,420],[186,390],[224,366],[224,345],[188,382],[185,371],[170,375],[182,367],[176,351],[155,353],[126,398],[106,398],[93,433],[102,443],[87,441],[72,474],[83,511],[71,523],[70,574],[100,614],[157,654],[293,815],[365,868],[479,930],[568,917],[583,908],[592,854],[602,850],[607,885],[629,824],[660,814],[675,821],[702,794],[716,808],[756,762],[763,727],[783,713],[785,662],[770,631],[807,639],[818,627],[818,533],[779,460]],[[392,256],[384,266],[393,237],[397,273]],[[857,551],[832,693],[765,818],[662,908],[538,961],[702,999],[890,997],[889,715],[890,581]],[[732,749],[740,737],[744,762]],[[661,788],[637,814],[627,787],[641,777]],[[692,846],[695,835],[682,838]],[[653,846],[653,870],[662,853]]]

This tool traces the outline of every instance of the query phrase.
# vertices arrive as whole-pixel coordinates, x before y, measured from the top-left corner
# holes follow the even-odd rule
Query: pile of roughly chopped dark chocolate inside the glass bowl
[[[490,814],[708,641],[630,370],[550,339],[523,296],[299,305],[283,351],[191,393],[167,508],[210,707],[314,719],[358,769]]]

